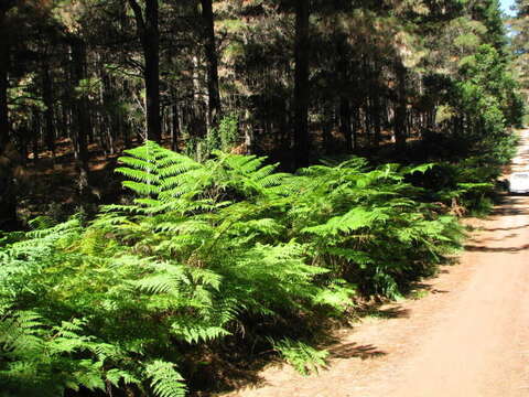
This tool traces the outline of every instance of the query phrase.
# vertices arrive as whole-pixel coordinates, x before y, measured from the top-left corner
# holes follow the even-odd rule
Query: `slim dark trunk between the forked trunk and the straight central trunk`
[[[212,0],[201,0],[204,19],[205,53],[207,67],[207,124],[216,127],[220,115],[220,94],[218,90],[218,57],[215,45],[215,21]]]

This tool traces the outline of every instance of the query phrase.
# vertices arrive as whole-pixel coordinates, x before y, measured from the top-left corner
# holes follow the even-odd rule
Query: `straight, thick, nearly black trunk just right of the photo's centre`
[[[309,1],[295,1],[294,144],[295,167],[309,164]]]

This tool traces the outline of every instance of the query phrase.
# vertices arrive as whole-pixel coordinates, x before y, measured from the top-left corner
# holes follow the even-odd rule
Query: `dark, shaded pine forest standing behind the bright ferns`
[[[526,33],[508,45],[496,0],[2,0],[0,31],[4,227],[24,198],[114,198],[100,171],[145,139],[294,170],[464,155],[521,122]]]

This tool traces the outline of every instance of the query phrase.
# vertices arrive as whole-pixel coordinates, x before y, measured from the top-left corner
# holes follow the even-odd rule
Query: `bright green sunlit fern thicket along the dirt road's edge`
[[[299,330],[260,324],[310,328],[347,315],[358,296],[398,297],[462,238],[407,182],[433,165],[353,158],[289,174],[152,142],[121,163],[129,204],[3,235],[0,396],[184,396],[228,337],[258,335],[315,369],[326,354],[295,341]]]

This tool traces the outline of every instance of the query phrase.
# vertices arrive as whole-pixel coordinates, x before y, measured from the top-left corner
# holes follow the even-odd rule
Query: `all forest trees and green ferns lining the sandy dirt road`
[[[0,4],[0,397],[320,371],[492,208],[527,94],[496,0],[197,3]]]

